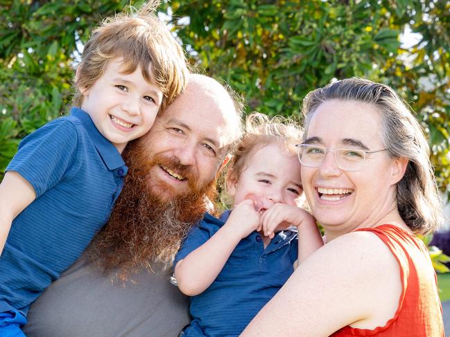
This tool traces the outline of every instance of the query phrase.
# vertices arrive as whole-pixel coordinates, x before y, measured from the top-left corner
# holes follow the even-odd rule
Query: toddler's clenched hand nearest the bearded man
[[[254,230],[261,230],[261,215],[254,210],[254,201],[245,199],[234,206],[224,226],[233,228],[236,233],[239,233],[241,239]]]

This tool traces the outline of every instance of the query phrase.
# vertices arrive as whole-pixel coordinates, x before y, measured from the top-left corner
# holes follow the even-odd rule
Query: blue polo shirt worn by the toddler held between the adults
[[[174,264],[212,237],[230,212],[220,219],[205,215],[184,240]],[[191,297],[193,320],[183,337],[239,336],[291,276],[297,252],[297,231],[291,228],[277,233],[266,249],[257,232],[242,239],[211,286]]]

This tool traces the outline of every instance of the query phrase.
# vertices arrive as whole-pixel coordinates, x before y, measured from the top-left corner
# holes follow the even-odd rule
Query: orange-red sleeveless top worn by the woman
[[[423,242],[392,225],[359,230],[377,235],[397,259],[402,286],[399,307],[383,327],[370,330],[347,325],[331,336],[443,337],[436,274]]]

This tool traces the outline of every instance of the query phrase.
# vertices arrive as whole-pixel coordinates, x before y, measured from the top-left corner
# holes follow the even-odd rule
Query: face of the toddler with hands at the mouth
[[[228,183],[234,205],[245,199],[254,201],[255,210],[263,213],[274,203],[300,206],[303,193],[300,163],[277,144],[258,149],[248,158],[237,181]]]

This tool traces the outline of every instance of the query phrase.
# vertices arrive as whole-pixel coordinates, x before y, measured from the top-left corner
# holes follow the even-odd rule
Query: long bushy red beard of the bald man
[[[202,219],[208,200],[214,200],[216,181],[199,187],[191,167],[176,158],[146,158],[146,145],[139,140],[128,145],[123,158],[129,169],[123,191],[89,252],[104,271],[119,267],[117,276],[126,281],[142,267],[171,265],[181,240]],[[150,169],[161,164],[187,177],[189,191],[177,194],[154,179]]]

